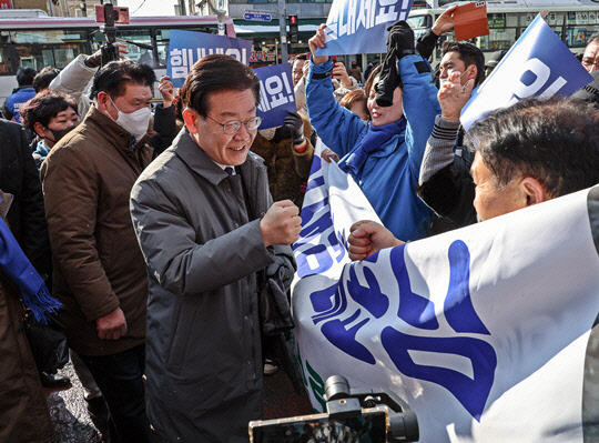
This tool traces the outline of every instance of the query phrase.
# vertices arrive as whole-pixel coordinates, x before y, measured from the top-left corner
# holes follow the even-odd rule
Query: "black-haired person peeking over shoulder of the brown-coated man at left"
[[[75,101],[61,92],[47,91],[23,104],[23,125],[38,135],[33,159],[38,164],[50,150],[79,124]]]

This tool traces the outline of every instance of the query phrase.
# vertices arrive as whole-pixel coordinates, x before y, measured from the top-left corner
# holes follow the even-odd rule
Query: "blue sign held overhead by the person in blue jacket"
[[[387,28],[406,20],[414,0],[333,0],[326,46],[317,56],[387,52]]]

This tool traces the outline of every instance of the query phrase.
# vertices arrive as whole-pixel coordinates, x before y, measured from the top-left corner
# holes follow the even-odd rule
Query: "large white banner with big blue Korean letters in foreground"
[[[597,441],[599,187],[351,263],[368,207],[315,157],[293,288],[314,409],[339,374],[405,400],[419,442]]]

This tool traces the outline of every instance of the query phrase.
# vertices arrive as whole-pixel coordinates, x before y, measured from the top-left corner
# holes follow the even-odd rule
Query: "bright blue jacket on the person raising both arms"
[[[306,82],[309,120],[318,137],[344,163],[370,127],[335,102],[329,77],[312,78],[314,73],[332,70],[333,62],[328,60],[316,66],[311,60],[309,63]],[[433,217],[415,192],[426,141],[433,131],[435,115],[440,113],[437,88],[432,82],[430,72],[422,69],[423,63],[420,56],[406,56],[399,60],[407,120],[405,141],[399,143],[399,137],[395,135],[372,152],[358,182],[383,224],[404,241],[426,236]]]

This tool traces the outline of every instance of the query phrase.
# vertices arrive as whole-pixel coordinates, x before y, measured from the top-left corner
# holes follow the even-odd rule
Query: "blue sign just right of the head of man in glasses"
[[[295,95],[290,63],[254,69],[260,79],[257,115],[264,120],[260,129],[281,127],[287,111],[295,111]]]

